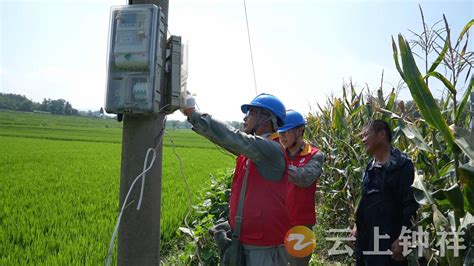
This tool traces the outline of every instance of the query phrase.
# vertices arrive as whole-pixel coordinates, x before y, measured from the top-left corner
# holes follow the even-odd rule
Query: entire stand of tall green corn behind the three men
[[[347,228],[354,223],[361,179],[369,159],[358,133],[368,120],[378,118],[391,125],[393,145],[407,153],[416,167],[413,189],[421,207],[415,225],[429,232],[433,239],[430,248],[423,251],[425,262],[430,265],[472,265],[474,135],[468,129],[472,118],[466,106],[474,78],[469,76],[473,62],[472,52],[466,48],[469,47],[466,36],[474,23],[471,21],[464,27],[452,46],[447,19],[443,17],[443,21],[444,29],[433,30],[429,37],[423,20],[425,32],[417,35],[429,37],[419,48],[438,53],[430,64],[429,53],[420,53],[426,55],[425,74],[417,68],[409,42],[399,36],[398,48],[393,41],[395,65],[413,102],[398,101],[398,88],[385,94],[383,82],[375,92],[368,87],[358,92],[360,88],[348,83],[343,85],[342,97],[329,98],[324,108],[318,105],[319,110],[308,115],[307,138],[326,155],[317,192],[317,254],[326,255],[333,244],[325,241],[328,229]],[[441,46],[438,45],[440,40],[443,41]],[[448,77],[437,71],[440,66],[449,72]],[[464,79],[464,83],[463,74],[470,77]],[[431,94],[430,79],[438,79],[446,86],[447,92],[441,99],[435,99]],[[464,93],[458,98],[462,86],[465,86]],[[459,256],[455,256],[453,250],[443,256],[439,248],[434,248],[443,240],[440,238],[443,232],[464,234],[463,239],[457,241],[466,247],[460,250]],[[347,256],[329,259],[350,261]],[[412,265],[418,265],[418,261],[417,256],[410,255]]]

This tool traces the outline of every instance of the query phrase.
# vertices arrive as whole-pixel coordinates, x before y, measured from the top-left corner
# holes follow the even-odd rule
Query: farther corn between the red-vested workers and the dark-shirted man
[[[341,98],[329,98],[324,108],[318,105],[318,112],[307,116],[306,137],[324,152],[326,158],[316,195],[316,254],[320,256],[327,255],[333,244],[325,241],[329,229],[345,229],[354,224],[353,214],[369,159],[359,134],[362,127],[373,118],[385,119],[393,128],[403,120],[396,114],[404,103],[396,101],[395,88],[384,95],[380,87],[373,95],[368,88],[360,90],[349,82],[343,85],[342,92]],[[406,149],[409,139],[398,129],[394,135],[395,145]],[[350,261],[347,256],[328,259]]]

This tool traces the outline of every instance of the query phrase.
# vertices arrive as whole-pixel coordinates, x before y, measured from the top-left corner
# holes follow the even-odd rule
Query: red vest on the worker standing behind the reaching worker
[[[290,161],[291,165],[305,166],[311,157],[319,151],[316,147],[305,144],[303,150]],[[316,193],[316,182],[309,187],[303,188],[288,182],[288,212],[292,226],[312,225],[316,223],[314,195]]]

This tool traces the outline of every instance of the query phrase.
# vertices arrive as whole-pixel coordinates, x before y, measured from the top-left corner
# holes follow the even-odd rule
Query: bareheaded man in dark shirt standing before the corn
[[[392,132],[385,121],[370,121],[363,135],[365,148],[374,158],[365,170],[352,231],[357,238],[357,265],[408,265],[399,236],[403,226],[411,227],[418,209],[411,189],[413,163],[392,147]]]

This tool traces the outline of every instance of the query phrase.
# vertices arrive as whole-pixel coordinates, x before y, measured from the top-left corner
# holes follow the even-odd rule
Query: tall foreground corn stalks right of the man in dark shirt
[[[446,17],[443,16],[443,20],[446,33],[443,49],[427,73],[421,74],[409,42],[402,35],[398,36],[398,47],[392,39],[393,56],[396,68],[422,115],[420,122],[425,124],[422,129],[427,133],[424,137],[420,136],[418,146],[420,149],[420,146],[424,147],[422,156],[428,156],[426,166],[429,167],[417,165],[419,171],[413,185],[415,196],[422,204],[418,225],[436,235],[435,241],[444,241],[440,235],[449,232],[457,238],[457,248],[465,247],[460,251],[460,256],[456,256],[453,250],[448,250],[446,256],[442,256],[440,250],[425,249],[425,258],[430,265],[472,265],[474,133],[468,129],[472,118],[466,111],[466,105],[474,77],[469,76],[473,62],[472,52],[467,51],[469,39],[466,36],[474,20],[466,24],[454,46]],[[441,63],[448,69],[449,77],[436,70]],[[468,85],[459,100],[459,84],[462,84],[459,78],[463,71],[467,72],[464,84]],[[431,93],[428,83],[430,78],[438,79],[446,87],[447,96],[440,102],[436,102]],[[460,232],[463,234],[462,239],[456,234]]]

